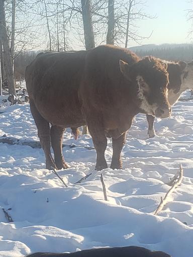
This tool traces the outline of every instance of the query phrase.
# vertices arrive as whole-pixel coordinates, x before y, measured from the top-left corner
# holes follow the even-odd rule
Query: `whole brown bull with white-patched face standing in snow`
[[[111,168],[122,168],[121,151],[133,117],[141,110],[170,115],[166,68],[156,58],[140,60],[127,49],[108,45],[39,54],[25,77],[46,168],[67,168],[61,148],[64,129],[84,124],[96,149],[96,169],[107,168],[107,137],[113,142]]]

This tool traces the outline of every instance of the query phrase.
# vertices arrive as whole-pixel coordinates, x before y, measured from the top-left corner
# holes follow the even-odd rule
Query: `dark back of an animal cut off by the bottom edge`
[[[171,257],[163,251],[151,251],[138,246],[96,248],[71,253],[36,252],[26,257]]]

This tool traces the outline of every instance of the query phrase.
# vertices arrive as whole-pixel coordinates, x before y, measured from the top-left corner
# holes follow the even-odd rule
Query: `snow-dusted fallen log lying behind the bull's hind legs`
[[[35,141],[35,140],[29,141],[27,139],[17,139],[14,137],[7,137],[6,135],[4,135],[3,137],[0,137],[0,143],[9,144],[9,145],[29,146],[32,148],[41,148],[39,141]],[[69,148],[83,147],[88,150],[94,149],[94,147],[80,146],[80,145],[75,145],[75,144],[62,144],[62,148],[63,147],[69,147]]]

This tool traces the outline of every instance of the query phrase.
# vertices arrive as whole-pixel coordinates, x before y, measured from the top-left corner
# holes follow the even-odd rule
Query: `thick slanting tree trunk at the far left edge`
[[[9,93],[16,95],[14,72],[13,72],[12,60],[10,55],[7,26],[6,26],[5,0],[0,0],[0,38],[2,39],[3,48],[4,48],[4,64],[5,64],[6,76],[8,79]]]

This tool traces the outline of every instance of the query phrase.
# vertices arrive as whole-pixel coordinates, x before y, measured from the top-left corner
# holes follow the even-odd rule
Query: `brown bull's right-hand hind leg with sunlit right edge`
[[[69,168],[69,166],[65,163],[64,157],[62,154],[62,139],[63,139],[64,131],[65,131],[64,127],[59,127],[56,125],[52,125],[50,130],[51,145],[54,151],[54,160],[59,170],[62,168],[63,169]]]

